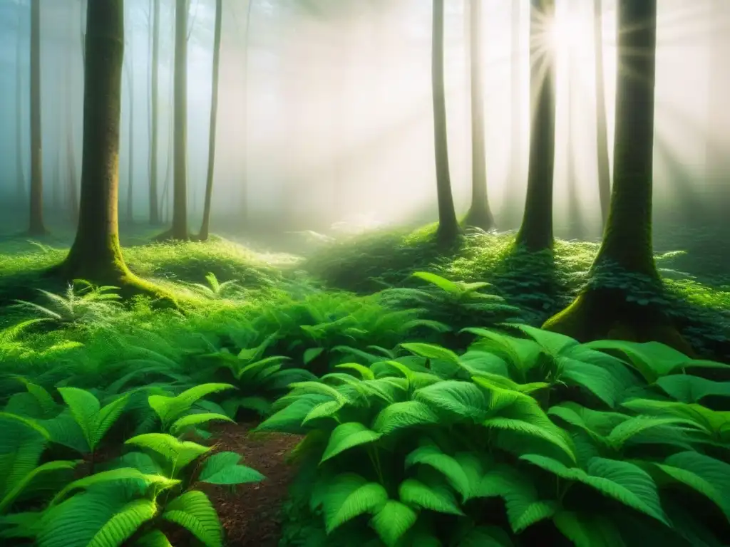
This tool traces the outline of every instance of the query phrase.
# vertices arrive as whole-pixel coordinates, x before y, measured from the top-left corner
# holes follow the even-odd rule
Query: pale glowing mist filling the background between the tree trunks
[[[468,0],[446,0],[445,23],[450,166],[460,213],[469,206],[471,170],[464,1]],[[612,143],[616,2],[603,3],[605,91]],[[126,0],[125,4],[120,216],[126,208],[131,178],[135,220],[142,223],[148,214],[152,2]],[[600,221],[593,2],[556,0],[556,4],[561,32],[556,235],[572,235],[566,176],[572,146],[580,217],[585,235],[596,238]],[[27,209],[26,203],[18,203],[17,187],[18,169],[26,184],[30,171],[29,5],[28,0],[0,0],[0,215]],[[55,188],[64,187],[69,176],[69,138],[74,142],[80,175],[85,4],[81,0],[42,0],[41,6],[43,169],[49,209],[61,199]],[[512,0],[485,1],[483,13],[488,191],[499,228],[516,228],[515,220],[504,218],[500,209],[508,185],[518,188],[521,207],[529,145],[529,0],[521,2],[517,29],[520,48],[515,54],[511,51],[515,30],[511,6]],[[162,0],[161,193],[166,184],[172,185],[168,150],[173,7],[174,1]],[[248,216],[264,230],[328,231],[332,223],[341,221],[352,227],[435,220],[430,1],[251,0],[249,5],[247,0],[224,0],[223,10],[213,230],[235,230],[241,217],[244,176]],[[191,0],[189,11],[188,199],[191,228],[196,228],[207,170],[215,0]],[[702,227],[708,219],[718,218],[723,208],[730,212],[730,203],[718,202],[722,194],[716,191],[718,175],[728,171],[726,158],[730,155],[730,109],[726,107],[730,65],[726,61],[727,39],[723,38],[730,34],[729,12],[728,0],[658,0],[657,233]],[[510,85],[513,66],[522,74],[518,90]],[[570,71],[575,89],[569,105]],[[516,128],[510,123],[512,101],[517,101],[522,111],[522,123]],[[132,103],[134,127],[130,128]],[[569,106],[571,140],[567,138]],[[130,131],[133,166],[129,166]],[[512,131],[521,136],[521,173],[510,172]],[[245,155],[244,133],[248,138]],[[18,155],[20,163],[16,161]],[[727,179],[722,181],[728,184]],[[166,202],[172,200],[172,189],[166,198]],[[163,205],[163,211],[169,219],[169,206]]]

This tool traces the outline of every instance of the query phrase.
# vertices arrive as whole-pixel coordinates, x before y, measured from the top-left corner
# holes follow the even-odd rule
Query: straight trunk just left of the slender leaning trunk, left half
[[[172,228],[158,239],[187,241],[188,233],[188,0],[175,2],[174,172]]]

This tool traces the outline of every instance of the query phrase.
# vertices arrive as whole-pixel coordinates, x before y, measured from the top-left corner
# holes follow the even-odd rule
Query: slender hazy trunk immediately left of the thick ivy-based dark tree
[[[596,67],[596,152],[598,161],[598,192],[601,219],[605,229],[611,201],[611,173],[608,163],[608,130],[606,123],[606,91],[603,75],[603,5],[593,0],[593,50]]]

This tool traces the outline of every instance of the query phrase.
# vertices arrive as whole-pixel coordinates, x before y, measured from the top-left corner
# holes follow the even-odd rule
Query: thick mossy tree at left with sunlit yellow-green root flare
[[[119,133],[124,56],[123,0],[88,2],[81,208],[74,244],[55,273],[66,280],[158,292],[131,274],[119,245]]]

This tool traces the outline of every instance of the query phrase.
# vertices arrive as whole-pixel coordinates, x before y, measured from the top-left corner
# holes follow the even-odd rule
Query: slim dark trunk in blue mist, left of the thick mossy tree
[[[31,0],[31,216],[28,233],[31,236],[47,233],[43,222],[40,0]]]

